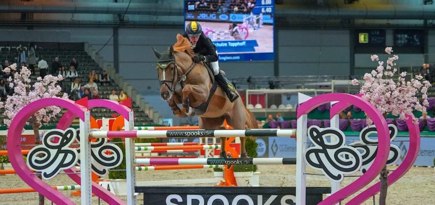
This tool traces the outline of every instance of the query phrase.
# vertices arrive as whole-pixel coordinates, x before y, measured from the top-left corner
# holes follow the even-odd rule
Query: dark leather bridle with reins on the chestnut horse
[[[177,68],[177,64],[175,63],[175,57],[173,59],[170,60],[164,60],[164,61],[158,61],[157,62],[157,66],[162,69],[162,72],[165,72],[165,69],[168,68],[168,66],[170,66],[171,64],[174,64],[174,74],[173,74],[173,78],[170,80],[159,80],[160,86],[162,84],[165,84],[169,90],[171,91],[171,93],[175,92],[175,87],[177,86],[177,83],[180,84],[180,86],[183,87],[182,82],[185,81],[187,79],[187,75],[193,70],[193,68],[195,67],[196,63],[193,61],[192,65],[189,67],[189,70],[182,76],[178,75],[178,68]],[[169,86],[169,84],[171,84],[171,86]]]

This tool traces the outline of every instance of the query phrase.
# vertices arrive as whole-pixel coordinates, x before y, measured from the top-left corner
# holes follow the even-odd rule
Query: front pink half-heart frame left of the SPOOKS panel
[[[30,172],[29,168],[24,161],[20,143],[21,143],[21,132],[26,125],[26,121],[38,110],[48,107],[48,106],[58,106],[69,110],[71,113],[77,115],[81,120],[84,120],[84,112],[86,108],[77,105],[72,100],[62,99],[62,98],[44,98],[35,100],[29,105],[25,106],[20,110],[13,118],[8,131],[8,156],[11,161],[11,165],[15,170],[16,174],[20,176],[24,182],[27,183],[34,190],[38,190],[43,196],[47,197],[50,201],[56,204],[76,204],[74,201],[63,195],[57,190],[47,185],[44,181],[39,179],[36,175]]]

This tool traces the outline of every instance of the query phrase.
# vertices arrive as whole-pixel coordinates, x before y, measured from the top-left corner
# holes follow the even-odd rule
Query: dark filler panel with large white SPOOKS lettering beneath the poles
[[[294,205],[295,187],[136,187],[143,205]],[[322,201],[331,188],[307,187],[306,204]]]

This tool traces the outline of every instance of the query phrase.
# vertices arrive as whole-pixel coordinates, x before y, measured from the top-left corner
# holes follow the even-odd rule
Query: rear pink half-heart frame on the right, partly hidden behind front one
[[[361,96],[361,94],[357,94],[356,96]],[[334,114],[338,114],[344,109],[348,108],[349,104],[345,102],[339,102],[335,104],[330,112],[331,117]],[[409,150],[406,153],[405,159],[402,161],[402,163],[391,172],[391,174],[388,175],[388,186],[392,185],[392,183],[396,182],[398,179],[400,179],[403,175],[408,172],[408,170],[414,165],[414,161],[417,158],[420,150],[420,129],[418,125],[415,125],[412,121],[412,116],[408,115],[408,119],[406,120],[406,125],[408,126],[409,130]],[[347,204],[361,204],[373,195],[379,193],[380,191],[380,182],[375,183],[370,188],[364,190],[354,198],[352,198]]]

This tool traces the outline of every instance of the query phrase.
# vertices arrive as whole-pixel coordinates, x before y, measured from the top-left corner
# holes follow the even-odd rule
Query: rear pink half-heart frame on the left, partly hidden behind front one
[[[92,109],[96,107],[104,107],[111,109],[120,115],[122,115],[126,120],[129,120],[129,112],[131,111],[130,108],[120,105],[118,102],[115,102],[113,100],[107,100],[107,99],[92,99],[87,101],[87,109]],[[92,113],[91,113],[92,114]],[[72,120],[74,120],[76,117],[78,117],[73,112],[66,112],[62,118],[59,120],[59,123],[56,128],[58,129],[66,129],[71,125]],[[69,173],[75,173],[78,172],[78,170],[74,167],[71,169],[65,170],[65,172]],[[69,178],[76,181],[77,183],[80,183],[80,174],[68,174]],[[112,194],[111,192],[107,191],[107,189],[104,189],[103,187],[99,186],[98,183],[92,182],[92,193],[94,193],[96,196],[103,199],[108,204],[114,204],[114,205],[121,205],[125,204],[124,201],[119,199],[117,196]]]

